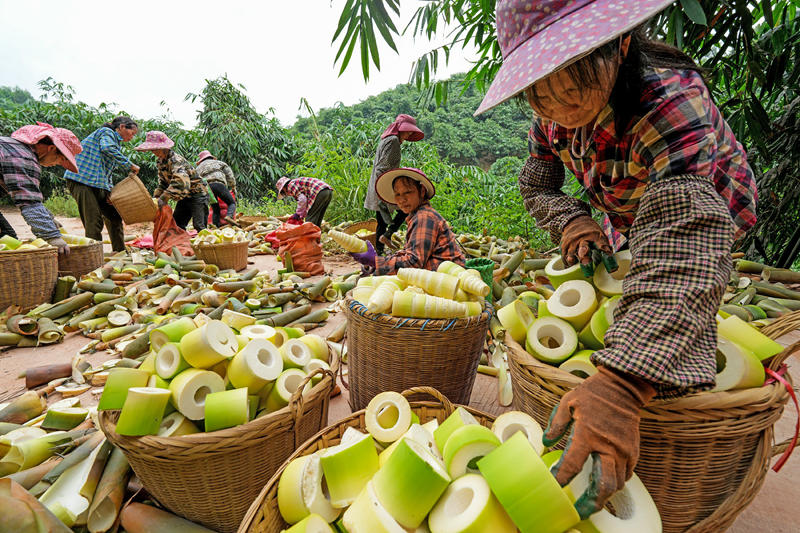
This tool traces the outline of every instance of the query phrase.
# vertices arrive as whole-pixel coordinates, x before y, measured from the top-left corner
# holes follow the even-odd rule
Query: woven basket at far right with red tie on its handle
[[[507,343],[514,409],[545,427],[564,394],[583,380]],[[770,368],[792,353],[800,353],[800,343],[775,356]],[[658,506],[664,533],[722,532],[736,520],[761,488],[770,459],[788,445],[773,446],[773,426],[788,398],[774,383],[656,401],[641,411],[636,473]]]

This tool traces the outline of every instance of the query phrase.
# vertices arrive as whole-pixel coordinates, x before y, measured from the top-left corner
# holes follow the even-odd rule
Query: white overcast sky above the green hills
[[[195,124],[199,104],[184,102],[205,79],[227,74],[242,83],[256,109],[275,109],[295,121],[300,98],[316,110],[353,104],[409,80],[411,64],[432,44],[397,41],[400,54],[381,46],[381,71],[365,83],[360,56],[337,77],[331,37],[345,0],[0,0],[0,85],[39,96],[39,80],[72,85],[90,105],[114,102],[134,117],[165,111]],[[403,0],[402,30],[419,4]],[[457,50],[447,77],[469,68]]]

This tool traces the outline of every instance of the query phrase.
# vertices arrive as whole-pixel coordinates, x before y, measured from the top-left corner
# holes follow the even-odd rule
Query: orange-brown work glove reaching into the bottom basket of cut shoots
[[[593,462],[589,487],[575,502],[581,519],[602,509],[633,475],[639,460],[639,409],[653,396],[650,383],[601,366],[553,409],[544,445],[553,446],[571,429],[552,469],[556,481],[567,485],[590,456]]]

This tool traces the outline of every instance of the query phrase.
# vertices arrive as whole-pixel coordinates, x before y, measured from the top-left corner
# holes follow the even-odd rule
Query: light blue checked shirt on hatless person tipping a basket
[[[122,135],[111,128],[96,129],[81,141],[81,146],[83,151],[75,157],[78,172],[67,170],[64,172],[65,179],[110,191],[114,186],[111,181],[114,169],[121,167],[127,170],[131,167],[130,159],[120,150]]]

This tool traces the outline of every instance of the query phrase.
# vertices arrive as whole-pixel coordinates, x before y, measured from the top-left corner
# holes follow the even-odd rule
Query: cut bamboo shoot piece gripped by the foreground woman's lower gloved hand
[[[580,473],[564,488],[564,492],[572,498],[580,497],[589,488],[591,472],[590,457]],[[602,509],[579,523],[577,529],[592,533],[661,533],[662,531],[658,508],[636,474],[633,474],[621,490],[611,496],[608,507],[613,508],[613,514],[608,509]]]

